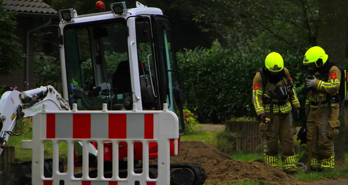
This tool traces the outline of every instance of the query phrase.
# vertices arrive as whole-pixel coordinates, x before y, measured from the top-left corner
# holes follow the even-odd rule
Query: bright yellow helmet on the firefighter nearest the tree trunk
[[[325,51],[319,46],[311,47],[307,50],[306,54],[304,54],[303,58],[304,65],[314,62],[317,67],[322,67],[326,61],[327,54],[325,54]]]

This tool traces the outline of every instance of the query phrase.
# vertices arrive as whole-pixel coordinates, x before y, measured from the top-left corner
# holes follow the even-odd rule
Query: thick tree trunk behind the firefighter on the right
[[[346,0],[319,0],[319,24],[317,44],[329,59],[344,67],[347,45],[347,4]],[[344,162],[346,139],[344,109],[340,109],[340,134],[335,139],[335,158]],[[338,147],[339,146],[339,147]]]

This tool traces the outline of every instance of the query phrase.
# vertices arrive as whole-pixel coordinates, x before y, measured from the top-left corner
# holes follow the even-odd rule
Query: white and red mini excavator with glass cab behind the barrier
[[[96,3],[97,13],[78,15],[74,9],[59,10],[59,25],[46,28],[45,53],[59,45],[63,96],[47,86],[19,92],[5,92],[0,100],[0,153],[10,136],[22,134],[22,117],[48,110],[99,111],[107,104],[110,111],[163,110],[162,105],[179,117],[179,133],[185,133],[183,92],[181,90],[176,55],[173,49],[169,18],[158,8],[136,2],[136,8],[127,9],[125,2],[110,4],[106,11],[102,1]],[[139,106],[142,105],[142,106]],[[17,121],[20,133],[13,129]],[[89,167],[96,167],[98,148],[89,143]],[[152,144],[152,145],[151,145]],[[180,139],[179,139],[180,144]],[[112,151],[112,146],[104,143]],[[127,175],[127,143],[119,143],[119,176]],[[180,148],[180,146],[179,146]],[[157,143],[149,144],[149,159],[157,158]],[[103,152],[103,148],[101,150]],[[106,151],[106,150],[105,150]],[[104,151],[104,176],[112,175],[112,159]],[[142,151],[141,142],[134,143],[134,151]],[[174,155],[174,140],[170,141],[170,155]],[[142,152],[134,153],[135,173],[141,173]],[[44,176],[52,177],[52,158],[45,159]],[[16,163],[17,183],[6,181],[8,172],[0,172],[1,185],[31,183],[31,161]],[[74,145],[74,166],[82,166],[82,143]],[[203,185],[205,169],[196,163],[171,164],[171,185]],[[149,166],[150,178],[157,178],[157,165]],[[63,162],[59,163],[60,171]],[[97,170],[97,169],[96,169]],[[97,175],[96,170],[89,177]],[[111,171],[111,172],[110,172]],[[62,171],[61,171],[62,172]],[[82,173],[75,173],[79,178]],[[5,180],[2,180],[5,179]]]

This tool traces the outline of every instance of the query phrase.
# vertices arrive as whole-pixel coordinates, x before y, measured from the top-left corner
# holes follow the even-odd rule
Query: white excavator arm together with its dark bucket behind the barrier
[[[54,87],[41,86],[40,88],[19,92],[17,90],[5,92],[0,99],[0,156],[10,136],[20,136],[23,132],[22,117],[30,117],[40,113],[43,109],[50,111],[70,111],[69,104],[62,98]],[[21,124],[19,133],[14,133],[13,129],[17,123]],[[89,144],[93,146],[92,144]],[[77,155],[82,153],[82,143],[74,145]],[[94,147],[89,147],[89,153],[97,156],[97,150]],[[52,176],[52,159],[45,159],[45,174],[48,177]],[[25,166],[16,172],[14,179],[21,179],[20,184],[26,184],[31,181],[31,161],[20,162],[21,166]],[[60,165],[62,166],[62,165]],[[13,179],[12,179],[13,180]],[[8,181],[8,172],[0,171],[0,185],[13,185],[13,182]],[[16,183],[15,183],[16,184]]]

